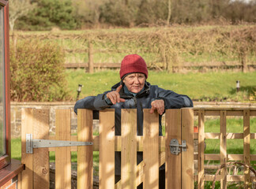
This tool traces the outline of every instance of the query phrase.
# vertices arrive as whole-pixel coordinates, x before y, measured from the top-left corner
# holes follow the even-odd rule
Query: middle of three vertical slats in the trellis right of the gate
[[[220,165],[227,163],[227,111],[220,111]],[[227,188],[227,168],[220,171],[220,188]]]

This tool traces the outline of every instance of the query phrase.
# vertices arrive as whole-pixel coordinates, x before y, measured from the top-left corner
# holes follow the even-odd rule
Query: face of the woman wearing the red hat
[[[122,82],[126,84],[130,92],[138,93],[145,85],[145,75],[143,73],[131,73]]]

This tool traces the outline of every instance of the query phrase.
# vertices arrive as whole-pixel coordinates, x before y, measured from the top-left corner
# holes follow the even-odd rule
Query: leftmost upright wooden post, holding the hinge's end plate
[[[33,109],[21,109],[21,163],[26,169],[21,172],[21,188],[33,188],[33,154],[26,154],[26,134],[33,133]]]

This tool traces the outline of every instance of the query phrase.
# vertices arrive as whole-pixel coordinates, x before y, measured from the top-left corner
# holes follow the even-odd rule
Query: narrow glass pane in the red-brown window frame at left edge
[[[4,72],[4,11],[0,6],[0,156],[6,154],[6,132],[5,132],[5,120],[4,120],[4,103],[5,98],[3,94],[3,72]]]

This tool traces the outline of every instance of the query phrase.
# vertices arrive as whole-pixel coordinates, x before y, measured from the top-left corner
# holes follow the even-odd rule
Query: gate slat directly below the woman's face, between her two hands
[[[122,109],[121,113],[121,185],[122,189],[136,188],[137,165],[137,112]]]

